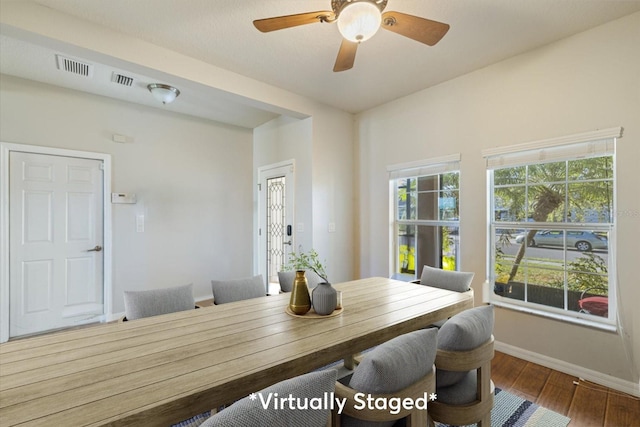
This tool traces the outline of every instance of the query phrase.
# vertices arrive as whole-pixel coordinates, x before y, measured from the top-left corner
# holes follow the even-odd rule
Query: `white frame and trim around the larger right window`
[[[557,138],[550,138],[540,141],[532,141],[526,142],[522,144],[515,144],[505,147],[497,147],[482,150],[482,156],[485,157],[487,161],[487,197],[492,198],[492,185],[491,185],[491,172],[494,169],[499,169],[500,167],[514,167],[524,163],[533,163],[536,159],[531,157],[532,153],[536,151],[544,151],[545,149],[554,149],[554,150],[562,150],[563,148],[569,148],[571,151],[572,145],[576,144],[584,144],[588,142],[595,143],[591,145],[591,147],[585,147],[586,149],[583,152],[574,151],[571,155],[572,158],[580,158],[580,157],[588,157],[594,155],[606,155],[615,153],[615,145],[619,138],[622,138],[623,128],[621,126],[607,129],[599,129],[590,132],[583,132],[573,135],[567,135]],[[613,144],[604,143],[603,140],[613,140]],[[544,155],[543,155],[544,156]],[[498,157],[511,157],[510,161],[507,163],[500,163],[495,161]],[[564,153],[560,153],[557,156],[552,156],[552,159],[558,158],[561,159],[566,157],[566,151]],[[538,161],[548,162],[549,158],[538,158]],[[523,163],[524,162],[524,163]],[[617,194],[617,168],[614,169],[614,194]],[[492,236],[492,219],[493,218],[493,203],[488,200],[487,203],[487,242],[489,245],[493,244],[493,236]],[[613,211],[617,210],[617,197],[614,199]],[[567,228],[563,224],[557,224],[558,226],[563,226]],[[584,224],[580,224],[584,225]],[[579,224],[571,224],[570,228],[575,228],[576,226],[580,226]],[[546,318],[552,318],[568,323],[579,324],[582,326],[589,326],[596,329],[602,329],[605,331],[616,332],[618,329],[618,307],[617,307],[617,294],[618,294],[618,284],[617,284],[617,273],[616,273],[616,262],[615,262],[615,248],[616,248],[616,233],[615,233],[615,223],[611,226],[611,233],[609,235],[609,256],[612,257],[614,262],[611,262],[610,270],[609,270],[609,278],[610,278],[610,286],[609,286],[609,299],[612,302],[612,306],[614,308],[614,312],[616,313],[614,316],[608,319],[602,320],[592,320],[591,317],[586,317],[584,314],[579,312],[570,312],[561,309],[554,309],[553,307],[544,307],[541,309],[536,309],[533,303],[527,303],[524,301],[513,300],[510,298],[501,297],[496,295],[492,291],[492,287],[494,286],[493,270],[495,264],[495,251],[489,247],[487,250],[487,277],[483,285],[483,302],[488,302],[494,304],[496,306],[505,307],[508,309],[520,311],[523,313],[529,313],[533,315],[539,315]],[[613,286],[611,286],[613,285]]]

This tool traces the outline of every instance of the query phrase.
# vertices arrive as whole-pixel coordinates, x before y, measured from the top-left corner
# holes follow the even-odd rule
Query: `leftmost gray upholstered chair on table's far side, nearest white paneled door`
[[[123,321],[143,317],[191,310],[196,307],[193,300],[193,285],[147,291],[124,291]],[[196,307],[197,308],[197,307]]]

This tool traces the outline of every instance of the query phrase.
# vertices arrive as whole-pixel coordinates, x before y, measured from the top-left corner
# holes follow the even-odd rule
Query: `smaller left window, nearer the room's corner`
[[[459,155],[388,168],[393,277],[419,278],[424,265],[458,269],[458,169]]]

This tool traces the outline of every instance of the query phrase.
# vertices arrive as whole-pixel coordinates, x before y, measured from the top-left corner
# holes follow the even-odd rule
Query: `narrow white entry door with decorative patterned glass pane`
[[[278,283],[278,271],[287,263],[294,248],[293,161],[260,168],[259,176],[259,248],[260,273],[269,284]]]

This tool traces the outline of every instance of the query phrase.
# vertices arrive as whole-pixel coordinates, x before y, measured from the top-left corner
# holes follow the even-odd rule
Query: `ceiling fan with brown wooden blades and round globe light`
[[[449,25],[400,12],[383,12],[388,0],[331,0],[332,10],[257,19],[253,25],[263,33],[316,22],[337,22],[342,44],[333,71],[353,67],[358,44],[380,27],[433,46],[449,31]]]

